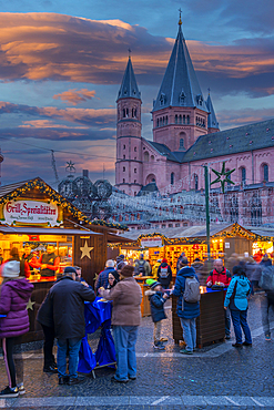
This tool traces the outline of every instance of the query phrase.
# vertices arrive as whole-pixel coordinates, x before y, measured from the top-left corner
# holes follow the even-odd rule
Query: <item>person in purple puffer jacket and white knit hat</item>
[[[27,310],[33,285],[20,275],[20,262],[10,260],[3,265],[0,297],[0,338],[2,339],[3,358],[9,380],[9,386],[0,392],[0,399],[18,397],[24,393],[23,388],[23,360],[13,361],[13,346],[20,344],[22,335],[30,328]],[[20,379],[17,386],[17,377]]]

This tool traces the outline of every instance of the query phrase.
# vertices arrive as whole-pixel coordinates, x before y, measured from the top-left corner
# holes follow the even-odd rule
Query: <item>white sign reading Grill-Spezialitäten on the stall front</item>
[[[9,201],[3,207],[4,222],[9,225],[14,223],[59,225],[58,205],[42,201]]]

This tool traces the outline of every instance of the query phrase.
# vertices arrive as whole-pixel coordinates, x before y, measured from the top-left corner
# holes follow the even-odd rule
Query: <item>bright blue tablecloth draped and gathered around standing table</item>
[[[88,342],[88,336],[82,339],[79,352],[78,371],[90,373],[97,365],[108,366],[116,361],[114,341],[111,336],[111,310],[110,301],[99,301],[101,297],[97,297],[93,303],[84,304],[85,332],[93,334],[102,326],[100,340],[95,353]]]

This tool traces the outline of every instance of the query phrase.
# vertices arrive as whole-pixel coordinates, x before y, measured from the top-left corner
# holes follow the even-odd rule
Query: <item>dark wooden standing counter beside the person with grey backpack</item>
[[[201,349],[204,345],[224,341],[224,290],[211,290],[201,287],[200,310],[196,318],[196,345]],[[177,297],[172,297],[172,327],[175,344],[183,340],[183,330],[176,314]]]

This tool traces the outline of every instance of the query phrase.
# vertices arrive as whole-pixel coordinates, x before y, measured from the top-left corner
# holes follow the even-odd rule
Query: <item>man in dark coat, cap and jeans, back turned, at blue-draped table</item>
[[[94,291],[89,285],[75,281],[77,270],[67,266],[63,277],[50,289],[53,308],[54,332],[58,339],[59,385],[77,385],[84,381],[78,376],[79,350],[85,335],[84,300],[93,301]],[[67,350],[69,350],[69,377],[67,375]]]

